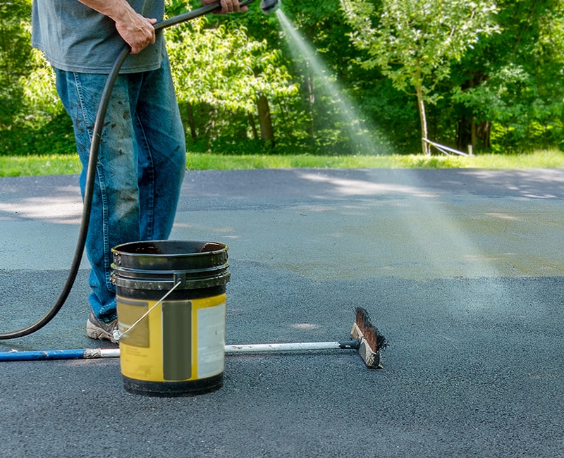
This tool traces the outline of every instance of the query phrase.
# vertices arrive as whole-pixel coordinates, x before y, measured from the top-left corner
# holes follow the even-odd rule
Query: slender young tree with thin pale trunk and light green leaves
[[[341,0],[354,32],[355,46],[367,49],[365,68],[379,67],[394,87],[417,97],[422,151],[427,143],[426,103],[441,94],[435,89],[481,35],[497,30],[492,0]]]

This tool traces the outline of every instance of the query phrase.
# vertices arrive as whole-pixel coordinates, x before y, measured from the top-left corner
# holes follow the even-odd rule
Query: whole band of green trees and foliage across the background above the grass
[[[0,156],[75,150],[51,69],[30,47],[30,6],[0,2]],[[187,1],[166,6],[175,16]],[[166,31],[191,151],[364,152],[350,133],[357,121],[336,103],[343,95],[359,132],[385,132],[388,149],[409,154],[420,149],[422,104],[410,95],[418,87],[431,139],[515,158],[564,149],[564,0],[498,0],[496,14],[488,0],[283,0],[281,9],[321,71],[290,52],[276,15],[264,15],[258,0],[248,13]],[[260,94],[274,142],[257,135]]]

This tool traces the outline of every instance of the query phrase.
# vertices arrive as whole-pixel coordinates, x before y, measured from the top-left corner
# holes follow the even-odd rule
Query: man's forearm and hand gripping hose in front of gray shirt
[[[154,43],[154,27],[157,19],[145,18],[136,13],[126,0],[78,0],[116,23],[118,34],[131,47],[131,54],[137,54]]]

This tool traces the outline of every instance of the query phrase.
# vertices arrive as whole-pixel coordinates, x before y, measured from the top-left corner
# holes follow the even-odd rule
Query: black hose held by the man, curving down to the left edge
[[[255,0],[244,0],[240,2],[241,6],[247,6]],[[172,25],[177,25],[183,23],[190,19],[199,18],[207,13],[212,13],[221,8],[219,1],[212,4],[202,6],[202,8],[197,8],[194,11],[189,11],[188,13],[183,13],[173,18],[169,18],[161,21],[154,25],[155,30],[161,30],[166,27],[171,27]],[[84,204],[82,208],[82,219],[80,221],[80,230],[78,231],[78,240],[76,242],[75,254],[73,257],[73,262],[71,268],[68,271],[68,276],[66,282],[63,285],[59,299],[56,300],[55,304],[47,312],[47,314],[41,318],[36,323],[28,326],[27,328],[16,330],[8,333],[0,333],[0,340],[15,339],[18,337],[23,337],[25,335],[30,335],[35,333],[35,331],[43,328],[49,321],[51,321],[56,314],[59,313],[61,307],[65,303],[71,289],[75,283],[76,276],[78,274],[78,269],[80,268],[80,261],[82,260],[82,254],[84,254],[84,248],[86,243],[86,235],[88,232],[88,225],[90,223],[90,211],[92,210],[92,193],[94,192],[94,178],[96,177],[96,165],[98,162],[98,151],[100,146],[100,140],[102,138],[102,127],[104,124],[104,118],[106,118],[106,111],[108,109],[109,100],[111,97],[111,91],[114,89],[114,84],[118,78],[119,70],[130,53],[130,48],[125,46],[123,51],[119,54],[114,66],[111,68],[106,80],[106,85],[104,86],[104,91],[102,92],[102,98],[100,99],[100,104],[98,106],[98,112],[96,116],[96,121],[94,123],[94,131],[92,132],[92,143],[90,144],[90,156],[88,158],[87,175],[85,183],[85,194],[84,194]]]

